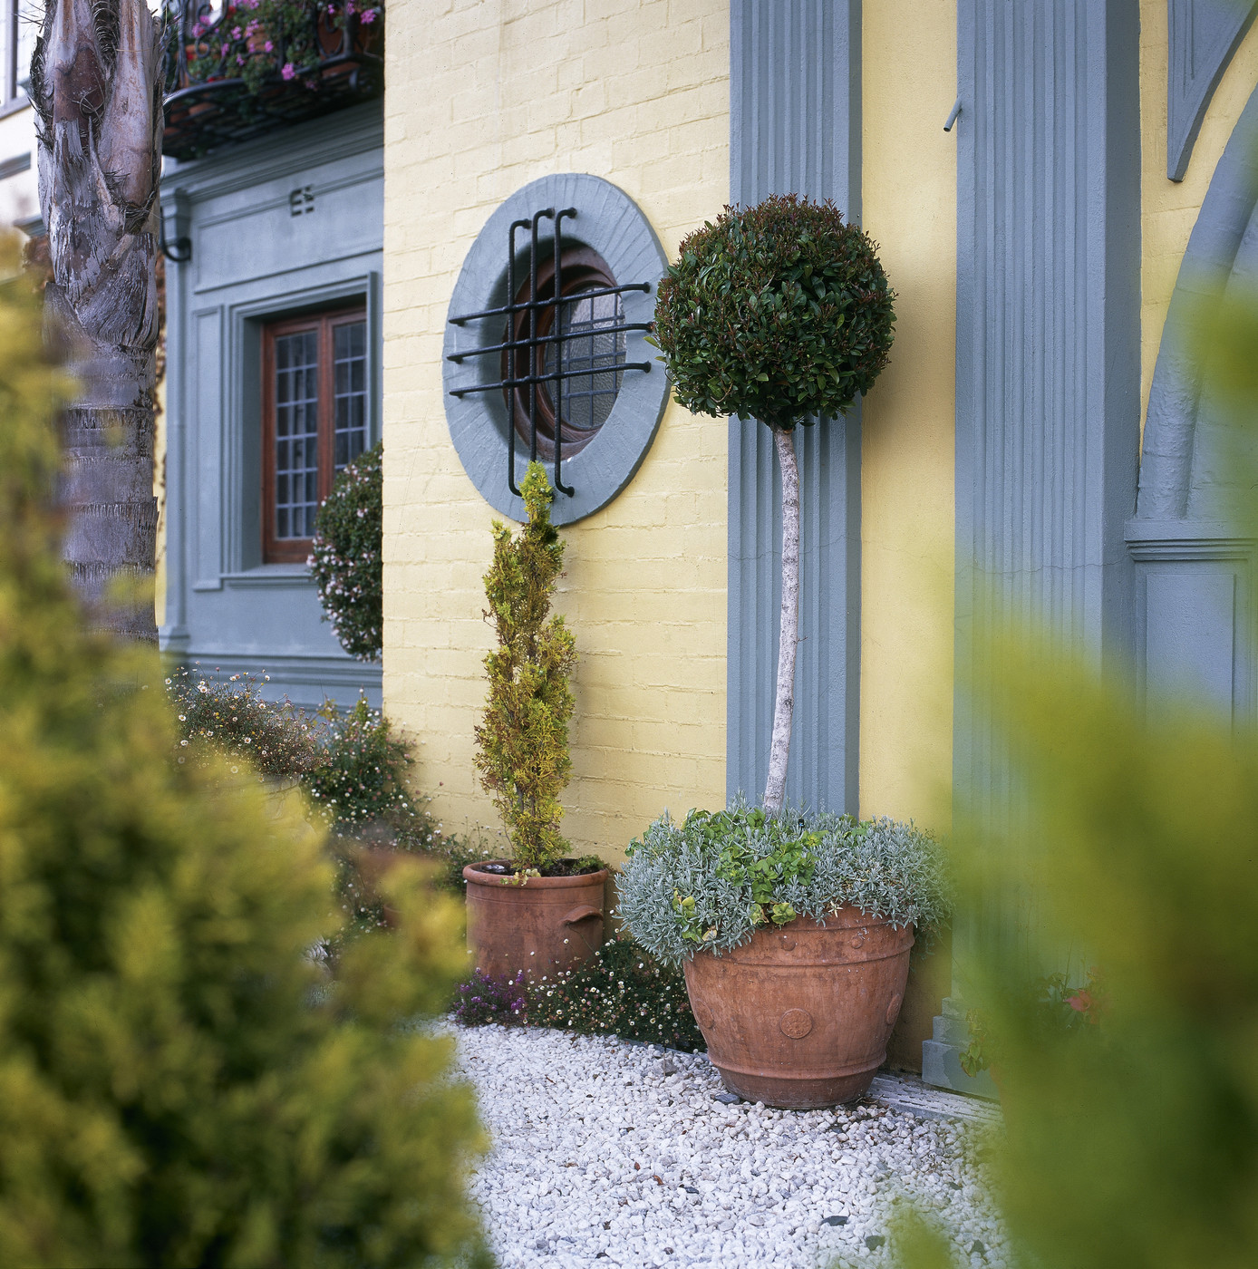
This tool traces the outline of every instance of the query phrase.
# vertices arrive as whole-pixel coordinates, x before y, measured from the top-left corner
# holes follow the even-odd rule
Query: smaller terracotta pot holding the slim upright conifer
[[[467,950],[482,973],[514,977],[523,970],[541,978],[580,964],[603,945],[606,868],[580,877],[529,877],[517,886],[510,876],[484,867],[463,869]]]

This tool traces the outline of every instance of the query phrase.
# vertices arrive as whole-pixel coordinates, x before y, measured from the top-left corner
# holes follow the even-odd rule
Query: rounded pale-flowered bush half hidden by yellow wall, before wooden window
[[[377,444],[336,477],[315,516],[306,561],[324,618],[359,661],[378,661],[385,646],[382,458]]]

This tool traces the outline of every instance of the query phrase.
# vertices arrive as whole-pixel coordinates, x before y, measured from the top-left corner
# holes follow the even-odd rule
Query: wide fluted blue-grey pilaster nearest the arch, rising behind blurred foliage
[[[1139,10],[960,0],[957,15],[953,782],[960,807],[999,824],[1016,807],[999,730],[967,690],[976,640],[1033,621],[1098,666],[1130,647]],[[977,1091],[963,1030],[946,1005],[923,1075]]]

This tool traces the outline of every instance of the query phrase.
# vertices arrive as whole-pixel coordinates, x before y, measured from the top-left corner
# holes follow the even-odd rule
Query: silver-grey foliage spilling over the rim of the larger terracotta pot
[[[795,914],[824,920],[851,905],[896,926],[915,926],[927,945],[948,920],[942,848],[913,824],[790,807],[749,817],[741,801],[730,815],[738,817],[740,848],[754,859],[781,858],[783,840],[802,849],[809,867],[776,884],[772,895]],[[722,849],[710,830],[702,831],[693,811],[683,824],[665,811],[630,844],[617,881],[617,915],[651,956],[679,964],[702,948],[720,954],[751,938],[764,909],[750,883],[722,876],[730,872]],[[693,907],[683,909],[688,898]]]

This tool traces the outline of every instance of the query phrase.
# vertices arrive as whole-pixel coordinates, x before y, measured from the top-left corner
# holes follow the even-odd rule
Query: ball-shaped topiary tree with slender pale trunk
[[[726,207],[682,241],[660,283],[654,343],[696,414],[759,419],[782,472],[782,613],[764,805],[779,808],[795,707],[800,476],[795,428],[852,409],[887,363],[895,293],[875,244],[833,203],[795,194]]]

